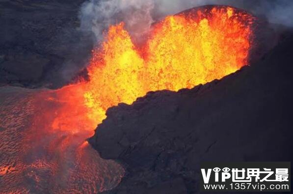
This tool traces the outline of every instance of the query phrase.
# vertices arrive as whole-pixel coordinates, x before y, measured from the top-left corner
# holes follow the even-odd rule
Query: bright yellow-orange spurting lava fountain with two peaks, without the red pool
[[[89,118],[100,123],[109,107],[148,91],[191,88],[237,71],[247,64],[253,20],[232,7],[190,10],[154,25],[140,48],[123,23],[111,26],[88,68]]]

